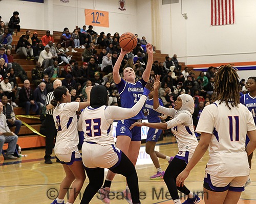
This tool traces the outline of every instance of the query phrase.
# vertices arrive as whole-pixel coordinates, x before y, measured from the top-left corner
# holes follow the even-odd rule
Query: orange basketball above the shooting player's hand
[[[132,50],[136,47],[138,40],[133,33],[124,33],[119,38],[119,44],[124,50]]]

